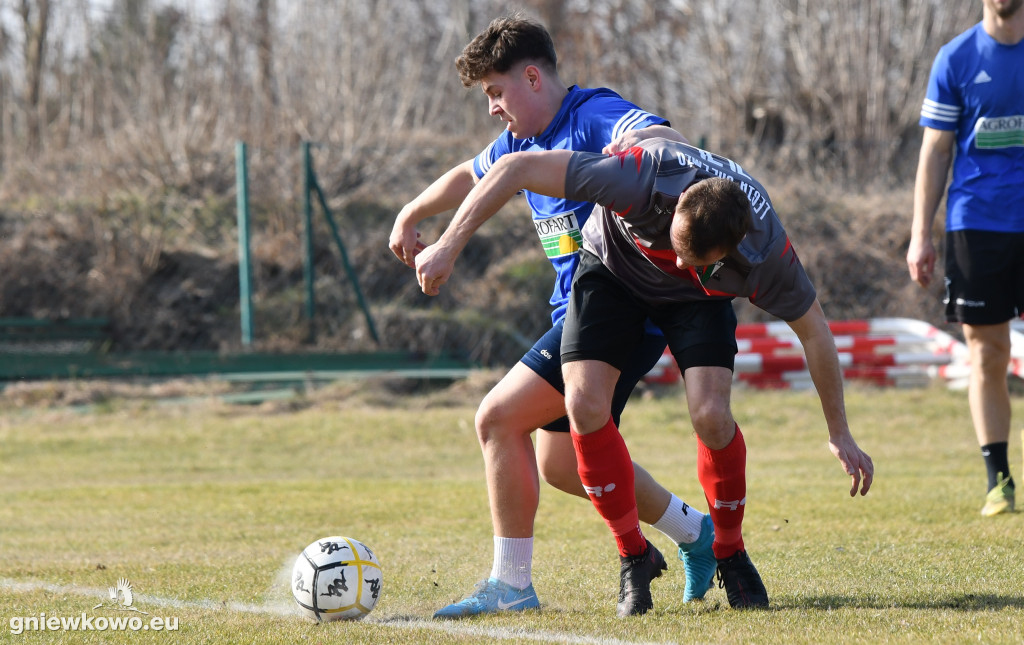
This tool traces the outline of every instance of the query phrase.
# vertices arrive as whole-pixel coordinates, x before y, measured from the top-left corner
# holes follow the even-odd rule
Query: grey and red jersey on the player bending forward
[[[740,184],[751,203],[751,228],[715,265],[680,269],[669,238],[676,202],[709,177]],[[645,300],[748,298],[787,321],[814,302],[814,286],[768,192],[731,160],[667,139],[647,139],[617,155],[574,153],[565,195],[600,207],[583,227],[584,248]]]

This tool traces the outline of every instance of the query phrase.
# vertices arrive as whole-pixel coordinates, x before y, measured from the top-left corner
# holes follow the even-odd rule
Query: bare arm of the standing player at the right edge
[[[913,187],[913,223],[910,225],[906,265],[910,270],[910,280],[922,287],[928,287],[932,283],[932,274],[935,272],[936,253],[932,242],[932,224],[946,186],[955,137],[953,130],[925,128],[921,141],[918,177]]]

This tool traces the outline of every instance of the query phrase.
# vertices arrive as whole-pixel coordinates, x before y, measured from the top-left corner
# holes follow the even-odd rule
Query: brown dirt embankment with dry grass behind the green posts
[[[941,280],[926,291],[907,276],[909,189],[865,197],[794,183],[773,188],[773,200],[830,318],[906,316],[939,326]],[[521,205],[507,211],[477,233],[438,298],[420,294],[412,270],[387,251],[393,207],[364,204],[340,214],[380,345],[326,228],[314,247],[311,329],[301,231],[257,225],[257,346],[445,349],[484,364],[515,360],[549,322],[551,271]],[[435,238],[443,223],[422,226],[424,239]],[[238,249],[229,229],[214,239],[222,242],[172,241],[153,226],[84,208],[0,212],[0,317],[105,317],[113,350],[239,349]],[[737,311],[741,320],[768,319],[745,302]]]

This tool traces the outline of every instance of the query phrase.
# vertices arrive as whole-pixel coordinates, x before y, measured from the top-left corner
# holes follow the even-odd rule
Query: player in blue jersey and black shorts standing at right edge
[[[982,22],[943,46],[921,111],[925,127],[906,262],[932,282],[932,224],[946,199],[946,320],[970,350],[968,400],[988,471],[984,516],[1014,510],[1010,319],[1024,313],[1024,0],[983,0]],[[955,155],[953,149],[955,146]]]

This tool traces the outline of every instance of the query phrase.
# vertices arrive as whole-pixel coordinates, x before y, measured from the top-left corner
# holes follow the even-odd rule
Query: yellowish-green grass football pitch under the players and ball
[[[585,501],[545,486],[534,569],[542,611],[459,622],[430,614],[490,566],[472,426],[480,392],[394,392],[349,384],[260,406],[116,391],[63,405],[5,392],[0,642],[1024,642],[1024,514],[980,517],[984,467],[963,392],[848,390],[851,426],[877,467],[870,493],[851,499],[812,393],[736,391],[749,447],[744,539],[770,610],[734,611],[720,589],[683,605],[673,558],[654,610],[615,618],[606,526]],[[1024,400],[1014,406],[1024,423]],[[623,433],[634,459],[707,508],[681,392],[634,401]],[[1015,431],[1018,480],[1020,439]],[[331,534],[380,558],[382,599],[366,620],[297,615],[291,564]],[[93,608],[120,578],[148,613],[140,617],[178,629],[15,634],[24,617],[117,614]]]

